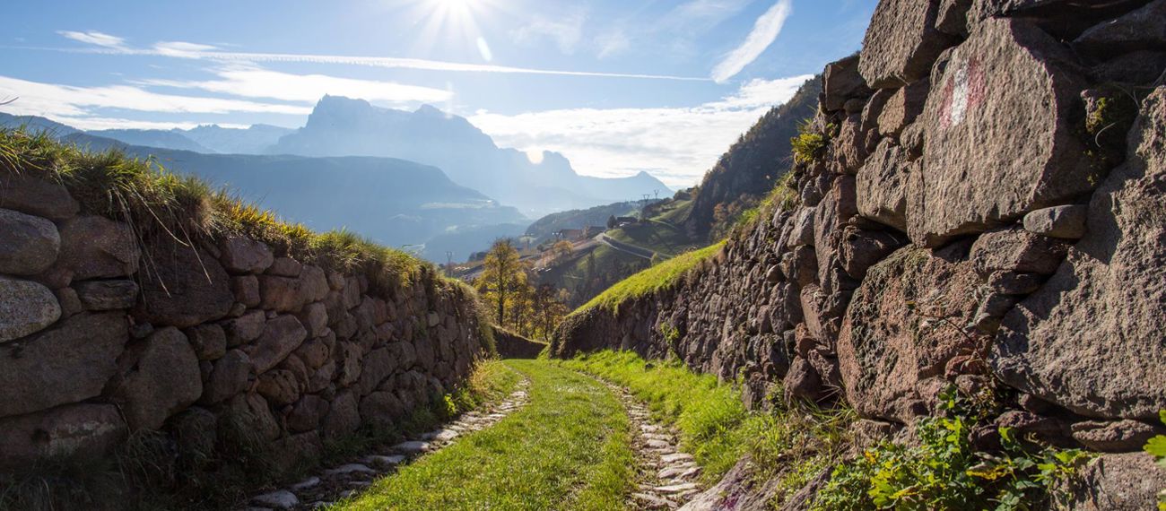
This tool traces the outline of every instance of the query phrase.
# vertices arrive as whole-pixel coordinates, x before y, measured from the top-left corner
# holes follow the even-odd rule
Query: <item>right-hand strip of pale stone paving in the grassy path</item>
[[[682,453],[676,433],[652,420],[647,407],[626,390],[606,384],[619,396],[637,435],[632,439],[639,477],[628,509],[677,509],[701,492],[701,468],[691,454]]]

